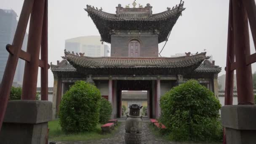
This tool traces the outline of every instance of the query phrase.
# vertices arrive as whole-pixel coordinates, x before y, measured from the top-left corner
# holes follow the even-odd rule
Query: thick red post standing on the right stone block
[[[251,64],[246,65],[246,56],[251,54],[248,16],[242,0],[232,2],[237,100],[238,104],[254,104]]]

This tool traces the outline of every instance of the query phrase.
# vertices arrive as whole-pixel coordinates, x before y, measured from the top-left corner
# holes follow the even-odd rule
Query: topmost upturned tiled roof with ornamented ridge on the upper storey
[[[167,11],[152,14],[152,6],[146,7],[140,5],[139,8],[123,8],[120,4],[116,7],[116,13],[107,13],[101,9],[87,5],[85,11],[91,17],[96,25],[101,39],[104,42],[111,43],[113,31],[120,30],[138,30],[138,31],[157,31],[158,43],[165,41],[174,24],[181,16],[184,2],[176,7],[167,8]]]

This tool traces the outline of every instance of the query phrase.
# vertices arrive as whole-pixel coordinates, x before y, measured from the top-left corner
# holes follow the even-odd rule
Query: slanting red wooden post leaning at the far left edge
[[[13,83],[13,77],[18,64],[19,53],[21,51],[33,3],[34,0],[24,0],[17,29],[13,38],[13,44],[9,45],[14,48],[14,53],[9,54],[8,61],[5,67],[5,72],[3,75],[3,80],[0,86],[0,130],[2,128],[3,118],[5,116],[5,110],[11,92],[11,85]]]

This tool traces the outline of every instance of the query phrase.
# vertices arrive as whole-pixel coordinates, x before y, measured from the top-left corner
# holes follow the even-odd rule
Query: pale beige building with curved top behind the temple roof
[[[100,36],[75,37],[65,41],[65,49],[75,53],[85,53],[84,56],[110,56],[110,48],[101,43]]]

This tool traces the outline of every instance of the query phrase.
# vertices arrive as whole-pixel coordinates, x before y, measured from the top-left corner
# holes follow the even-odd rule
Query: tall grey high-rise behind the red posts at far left
[[[8,51],[6,51],[5,46],[7,44],[12,44],[17,24],[17,14],[15,13],[15,11],[0,9],[0,82],[2,81],[6,62],[9,56],[9,53]],[[24,51],[27,50],[27,39],[28,35],[26,33],[22,45],[22,50]],[[24,64],[25,61],[19,59],[13,79],[13,86],[15,87],[22,86]]]

